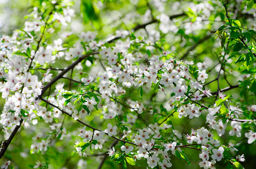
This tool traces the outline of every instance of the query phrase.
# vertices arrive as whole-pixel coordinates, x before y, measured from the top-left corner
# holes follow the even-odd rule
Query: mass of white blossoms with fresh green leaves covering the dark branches
[[[154,3],[162,9],[162,2],[154,1]],[[209,3],[199,3],[191,8],[195,15],[200,16],[193,23],[185,25],[185,28],[190,27],[186,29],[186,34],[202,29],[205,24],[198,24],[199,21],[209,17],[213,10]],[[75,11],[66,7],[62,12],[63,14],[53,12],[53,18],[49,17],[50,21],[68,25]],[[230,95],[218,90],[214,105],[206,106],[200,102],[203,97],[214,98],[211,97],[214,94],[211,94],[211,90],[204,84],[209,77],[205,62],[183,63],[170,51],[161,49],[162,54],[155,52],[157,47],[151,40],[158,40],[160,32],[156,30],[149,32],[149,39],[151,38],[149,40],[145,37],[136,38],[135,35],[129,37],[130,33],[126,30],[117,31],[119,40],[115,45],[107,45],[106,42],[109,41],[98,41],[97,34],[90,31],[78,34],[66,33],[62,38],[53,41],[53,44],[47,44],[45,41],[42,45],[40,44],[42,39],[40,41],[34,39],[36,36],[33,34],[44,37],[48,20],[40,21],[41,17],[38,15],[34,15],[34,18],[37,21],[25,22],[24,31],[27,34],[16,32],[12,37],[4,35],[0,41],[0,92],[2,98],[6,100],[0,123],[6,134],[5,137],[10,135],[14,126],[21,124],[28,129],[31,124],[36,125],[38,121],[43,121],[51,128],[51,132],[47,132],[51,136],[47,135],[43,138],[40,135],[33,140],[31,154],[45,154],[54,139],[58,137],[62,140],[68,135],[66,128],[63,127],[64,119],[63,123],[58,121],[62,113],[84,125],[78,128],[77,135],[83,141],[75,143],[76,151],[80,156],[86,156],[88,147],[90,152],[101,150],[103,145],[115,139],[116,143],[119,141],[122,145],[118,148],[115,148],[116,144],[111,145],[107,153],[111,159],[118,157],[129,157],[133,161],[146,159],[150,168],[171,167],[171,154],[188,161],[181,148],[192,148],[190,146],[194,145],[197,148],[192,149],[201,151],[199,166],[215,168],[215,163],[224,158],[224,152],[236,150],[235,145],[225,146],[214,139],[212,133],[216,132],[221,137],[227,132],[227,128],[229,136],[233,137],[242,137],[244,132],[248,144],[256,140],[256,132],[242,131],[242,123],[248,121],[240,120],[241,117],[244,118],[242,110],[229,102]],[[159,15],[158,19],[162,33],[177,29],[176,26],[170,27],[171,20],[167,15]],[[47,31],[51,33],[53,30]],[[70,35],[79,40],[71,47],[66,47],[68,45],[64,42]],[[25,38],[19,41],[18,37]],[[120,38],[125,38],[125,41]],[[143,48],[143,54],[138,46]],[[55,69],[62,71],[59,73],[62,75],[61,78],[70,80],[69,90],[66,89],[65,83],[58,83],[55,88],[50,87],[47,99],[44,100],[41,96],[44,87],[48,84],[51,86],[58,80],[52,78],[53,74],[50,71],[54,69],[51,68],[51,64],[61,59],[70,61],[70,65],[75,64],[79,59],[86,60],[85,64],[77,63],[70,69],[72,72],[78,70],[80,73],[77,74],[81,77],[78,80],[64,77],[67,68]],[[83,73],[83,66],[90,67],[93,64],[99,66],[99,63],[102,69],[97,68],[97,73]],[[46,71],[42,73],[36,72],[37,70]],[[77,90],[71,90],[71,81],[77,83],[76,85],[79,86]],[[154,94],[150,100],[146,100],[144,93],[149,95],[150,92]],[[155,103],[153,99],[156,100]],[[251,110],[256,112],[256,105],[251,106]],[[89,125],[92,119],[88,120],[96,117],[98,121],[95,114],[104,120],[97,128]],[[162,115],[161,118],[147,124],[144,117],[151,118],[156,114]],[[184,135],[168,120],[173,114],[188,119],[202,116],[205,118],[206,115],[206,124],[209,125],[210,130],[201,127]],[[84,120],[88,121],[85,123]],[[137,121],[140,122],[136,123]],[[133,125],[134,123],[136,125]],[[101,128],[103,124],[107,126],[105,130]],[[139,128],[140,124],[141,128]],[[184,138],[188,144],[183,144]],[[238,155],[236,161],[244,161],[244,155]],[[9,164],[10,161],[1,168],[6,168]]]

